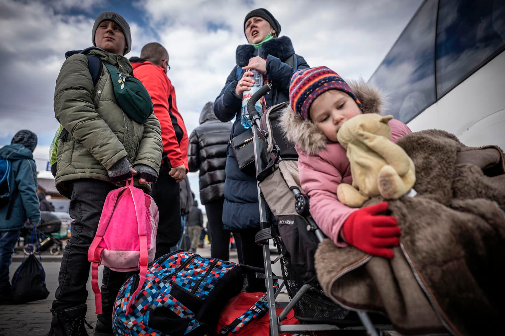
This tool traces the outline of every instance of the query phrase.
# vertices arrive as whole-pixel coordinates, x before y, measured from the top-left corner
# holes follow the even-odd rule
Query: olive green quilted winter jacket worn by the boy
[[[130,62],[123,56],[101,49],[89,50],[87,54],[99,56],[123,74],[132,73]],[[109,181],[107,170],[123,157],[132,165],[145,164],[160,170],[160,122],[152,113],[140,124],[123,112],[116,103],[105,65],[93,86],[86,55],[68,57],[56,80],[54,108],[56,119],[69,131],[58,145],[56,186],[62,195],[70,197],[65,181]],[[142,187],[150,190],[147,184]]]

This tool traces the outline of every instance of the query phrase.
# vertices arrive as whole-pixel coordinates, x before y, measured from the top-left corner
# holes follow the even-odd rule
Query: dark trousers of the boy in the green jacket
[[[96,234],[107,194],[116,188],[112,183],[92,178],[66,183],[71,194],[70,217],[74,221],[72,235],[63,251],[59,286],[53,303],[53,307],[63,309],[86,303],[86,283],[91,265],[88,261],[88,248]],[[112,316],[114,300],[129,275],[131,274],[113,272],[105,267],[102,280],[104,316]]]

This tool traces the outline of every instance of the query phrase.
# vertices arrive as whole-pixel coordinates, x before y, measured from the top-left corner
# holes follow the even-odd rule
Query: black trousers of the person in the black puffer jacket
[[[230,232],[223,229],[224,197],[205,204],[207,229],[211,235],[211,258],[229,260]]]

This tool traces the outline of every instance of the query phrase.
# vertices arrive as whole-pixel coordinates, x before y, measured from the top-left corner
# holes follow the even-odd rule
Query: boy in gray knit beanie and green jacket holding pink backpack
[[[135,186],[149,192],[150,183],[158,177],[163,152],[156,115],[151,113],[143,123],[136,122],[118,103],[113,90],[113,83],[124,87],[123,76],[133,71],[124,57],[131,49],[130,27],[119,14],[104,12],[94,22],[91,41],[96,48],[66,53],[56,80],[55,117],[66,133],[59,134],[55,184],[70,198],[69,214],[74,221],[63,252],[48,336],[88,334],[88,250],[107,195],[131,179]],[[93,79],[96,72],[92,68],[98,68],[98,78]],[[119,81],[116,77],[113,80],[113,74]],[[134,176],[137,172],[139,176]],[[104,266],[102,309],[96,309],[93,336],[114,335],[115,298],[129,276]]]

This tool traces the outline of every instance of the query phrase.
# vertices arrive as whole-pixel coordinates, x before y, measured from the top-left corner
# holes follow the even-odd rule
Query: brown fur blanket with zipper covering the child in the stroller
[[[415,164],[418,192],[388,201],[402,230],[400,246],[388,260],[326,239],[315,256],[321,286],[344,306],[385,313],[402,334],[501,333],[502,151],[467,147],[441,130],[415,132],[397,144]]]

